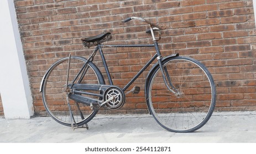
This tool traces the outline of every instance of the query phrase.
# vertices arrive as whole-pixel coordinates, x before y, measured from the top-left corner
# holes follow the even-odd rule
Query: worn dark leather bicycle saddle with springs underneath
[[[112,36],[110,32],[103,32],[102,34],[92,36],[92,37],[86,37],[82,38],[83,46],[91,47],[91,46],[97,46],[98,44],[111,40]]]

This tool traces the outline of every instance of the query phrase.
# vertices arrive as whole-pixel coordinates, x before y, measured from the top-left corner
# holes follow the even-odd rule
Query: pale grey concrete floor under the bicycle
[[[256,143],[256,112],[214,112],[194,133],[172,133],[149,114],[96,115],[72,130],[50,117],[0,118],[0,143]]]

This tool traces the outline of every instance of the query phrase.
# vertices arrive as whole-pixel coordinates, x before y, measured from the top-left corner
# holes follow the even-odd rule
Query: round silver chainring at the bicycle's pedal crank
[[[117,87],[109,87],[104,94],[104,101],[108,100],[111,96],[114,96],[114,100],[105,104],[108,109],[118,109],[124,105],[125,96],[121,89],[118,89]]]

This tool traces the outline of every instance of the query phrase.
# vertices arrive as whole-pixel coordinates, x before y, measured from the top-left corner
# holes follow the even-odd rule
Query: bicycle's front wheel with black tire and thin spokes
[[[167,58],[163,68],[168,85],[179,95],[168,90],[158,65],[147,87],[150,113],[169,131],[188,133],[201,128],[210,119],[216,102],[216,87],[210,72],[189,57]]]

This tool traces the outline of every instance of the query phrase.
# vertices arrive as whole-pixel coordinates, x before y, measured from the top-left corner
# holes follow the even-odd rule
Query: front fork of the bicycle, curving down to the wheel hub
[[[166,67],[163,66],[162,64],[162,59],[163,57],[161,56],[161,53],[160,53],[160,50],[159,50],[159,47],[158,47],[158,42],[156,41],[153,41],[154,45],[155,45],[155,50],[158,54],[158,64],[159,64],[159,67],[160,67],[160,70],[161,70],[161,73],[163,75],[163,79],[164,79],[164,83],[165,83],[165,86],[167,87],[167,89],[172,92],[175,96],[177,97],[180,97],[181,96],[181,93],[179,92],[179,90],[177,90],[173,83],[171,82],[171,78],[170,78],[170,75],[168,73],[168,70]],[[167,79],[167,80],[166,80]]]

